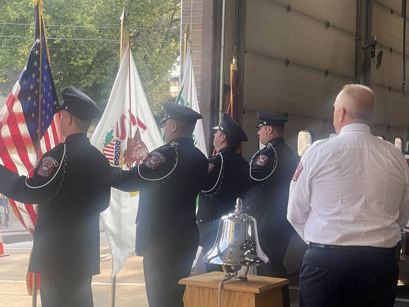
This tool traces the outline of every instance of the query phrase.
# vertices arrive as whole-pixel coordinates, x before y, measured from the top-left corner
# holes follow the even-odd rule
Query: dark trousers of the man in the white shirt
[[[300,307],[392,307],[398,274],[391,255],[309,248],[300,266]]]

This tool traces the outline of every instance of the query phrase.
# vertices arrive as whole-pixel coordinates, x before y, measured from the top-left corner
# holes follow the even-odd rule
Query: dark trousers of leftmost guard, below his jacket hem
[[[40,275],[42,307],[93,307],[93,276]]]

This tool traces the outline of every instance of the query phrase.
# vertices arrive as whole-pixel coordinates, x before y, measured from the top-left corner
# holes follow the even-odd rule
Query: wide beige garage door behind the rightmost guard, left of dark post
[[[258,109],[288,114],[285,138],[296,152],[300,130],[328,138],[336,94],[354,79],[355,24],[356,1],[247,0],[245,158],[258,150]]]

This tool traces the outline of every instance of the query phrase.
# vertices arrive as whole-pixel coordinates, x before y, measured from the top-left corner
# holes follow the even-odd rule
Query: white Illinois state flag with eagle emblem
[[[150,111],[137,67],[127,43],[117,78],[91,143],[113,167],[130,169],[163,140]],[[111,277],[118,274],[135,247],[139,193],[111,190],[109,208],[101,213],[112,254]]]

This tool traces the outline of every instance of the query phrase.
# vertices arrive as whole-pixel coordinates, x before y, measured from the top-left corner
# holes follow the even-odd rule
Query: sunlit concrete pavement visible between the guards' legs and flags
[[[31,306],[31,296],[26,290],[27,265],[32,242],[6,244],[7,257],[0,257],[0,307]],[[94,276],[95,307],[110,303],[111,255],[105,233],[101,233],[101,274]],[[148,307],[145,292],[142,258],[129,256],[117,276],[116,306]],[[38,295],[37,306],[41,306]]]

